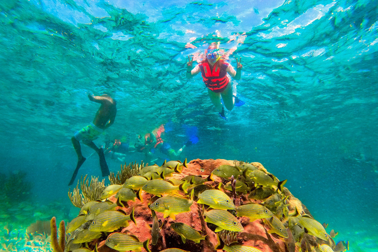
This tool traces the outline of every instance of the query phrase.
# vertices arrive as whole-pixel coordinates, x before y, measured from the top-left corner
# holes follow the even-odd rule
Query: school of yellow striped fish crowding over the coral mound
[[[162,213],[163,218],[176,220],[176,215],[190,212],[193,202],[202,204],[202,217],[207,223],[212,223],[216,233],[222,230],[236,234],[243,232],[240,218],[247,217],[250,221],[263,221],[268,233],[275,233],[284,240],[288,252],[295,252],[296,247],[301,252],[348,250],[348,242],[334,243],[332,238],[337,234],[334,230],[331,235],[327,234],[325,224],[290,205],[292,195],[284,188],[286,180],[279,181],[265,169],[258,169],[250,163],[235,162],[234,166],[220,165],[207,177],[190,175],[181,180],[171,178],[172,174],[181,173],[186,167],[187,159],[183,163],[168,161],[161,166],[142,166],[138,175],[128,178],[123,185],[106,187],[99,200],[86,203],[79,215],[67,224],[66,232],[70,236],[64,251],[91,252],[107,246],[120,252],[141,251],[142,248],[150,252],[150,240],[151,246],[155,246],[161,239],[156,212]],[[216,176],[221,178],[222,183],[214,186]],[[135,225],[137,221],[132,207],[128,211],[130,214],[120,208],[127,209],[130,200],[142,202],[143,193],[154,196],[154,201],[145,203],[151,210],[151,237],[140,241],[136,236],[121,232],[130,221]],[[113,195],[117,198],[116,203],[108,200]],[[243,200],[241,196],[244,196]],[[170,228],[182,238],[183,243],[191,240],[199,244],[207,238],[207,234],[203,235],[200,230],[182,222],[173,222]],[[217,237],[217,250],[261,252],[237,242],[227,244],[220,235]],[[88,243],[95,239],[105,242],[90,249]],[[185,251],[169,248],[161,252]]]

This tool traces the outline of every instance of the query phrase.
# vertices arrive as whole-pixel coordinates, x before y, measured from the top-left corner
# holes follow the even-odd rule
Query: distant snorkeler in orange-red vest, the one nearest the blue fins
[[[147,133],[142,138],[138,136],[137,142],[134,144],[134,147],[137,152],[142,152],[146,155],[146,162],[153,162],[156,159],[152,159],[155,150],[159,150],[162,154],[168,156],[171,160],[179,159],[179,156],[183,150],[181,148],[177,152],[171,148],[171,146],[164,142],[161,138],[161,134],[164,133],[164,125],[160,125],[158,128],[154,129],[151,133]]]

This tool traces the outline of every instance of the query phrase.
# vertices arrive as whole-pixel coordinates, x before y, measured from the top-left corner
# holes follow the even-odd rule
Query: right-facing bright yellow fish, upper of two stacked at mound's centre
[[[218,189],[205,190],[198,193],[198,204],[206,204],[215,209],[235,209],[235,205],[227,194]]]

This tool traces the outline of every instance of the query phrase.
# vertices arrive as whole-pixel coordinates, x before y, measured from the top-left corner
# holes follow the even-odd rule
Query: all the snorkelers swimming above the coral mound
[[[223,104],[228,111],[231,111],[234,106],[241,106],[244,104],[243,101],[233,95],[231,81],[227,75],[228,73],[235,80],[240,79],[241,69],[243,67],[241,64],[241,58],[239,61],[236,59],[235,70],[230,63],[227,63],[224,59],[222,59],[219,52],[219,44],[215,42],[210,44],[205,54],[206,57],[204,57],[202,62],[198,63],[193,69],[193,57],[188,57],[189,61],[187,63],[186,76],[189,79],[201,72],[210,100],[218,110],[221,118],[226,120],[221,99],[223,100]],[[98,154],[102,176],[105,177],[109,175],[109,168],[105,160],[104,150],[101,147],[98,148],[93,140],[97,139],[106,128],[114,123],[114,119],[116,118],[117,114],[117,103],[109,95],[95,96],[88,94],[88,97],[91,101],[100,103],[101,105],[95,114],[95,119],[93,122],[90,125],[83,127],[81,130],[76,131],[71,138],[78,161],[68,186],[73,184],[79,168],[86,160],[81,152],[80,141],[94,149],[95,153]],[[198,138],[191,138],[181,149],[175,151],[161,138],[161,134],[163,132],[164,126],[161,125],[157,129],[153,130],[153,132],[145,134],[144,137],[139,135],[134,146],[129,146],[126,143],[123,144],[120,141],[115,141],[113,146],[108,146],[106,148],[105,154],[110,153],[113,155],[113,157],[116,156],[116,158],[123,160],[121,154],[137,151],[144,153],[147,160],[154,161],[152,158],[154,152],[155,150],[159,150],[162,154],[165,154],[170,159],[175,160],[178,159],[181,152],[187,145],[198,141]]]

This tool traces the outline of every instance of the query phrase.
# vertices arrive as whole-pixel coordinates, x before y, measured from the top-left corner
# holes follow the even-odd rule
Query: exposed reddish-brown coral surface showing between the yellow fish
[[[227,164],[229,166],[236,166],[240,163],[238,161],[230,161],[225,159],[195,159],[191,160],[187,167],[183,167],[183,170],[181,173],[173,173],[170,177],[165,178],[165,180],[168,179],[175,179],[175,180],[182,180],[184,177],[189,175],[196,175],[196,176],[202,176],[203,179],[208,178],[208,176],[212,173],[212,171],[221,165]],[[257,168],[258,170],[261,170],[269,175],[269,173],[266,171],[266,169],[262,166],[262,164],[253,162],[252,165]],[[246,175],[246,173],[244,173]],[[270,174],[270,176],[277,180],[274,176]],[[205,181],[203,182],[205,185],[208,186],[208,188],[215,187],[219,183],[221,185],[225,185],[230,179],[228,178],[221,178],[218,176],[213,176],[214,181]],[[278,180],[277,180],[278,181]],[[254,184],[252,182],[252,184]],[[256,183],[257,184],[257,183]],[[252,185],[251,189],[254,189],[255,186]],[[274,188],[274,190],[276,190]],[[222,186],[221,190],[225,192],[228,196],[232,197],[232,193],[229,190],[224,189]],[[182,193],[183,194],[183,193]],[[190,195],[189,193],[186,193],[186,195]],[[286,224],[287,227],[287,221],[289,216],[297,215],[298,213],[306,213],[309,215],[309,211],[307,208],[295,197],[292,196],[292,194],[288,191],[288,189],[284,188],[283,192],[281,193],[282,198],[280,200],[281,203],[283,203],[284,207],[287,206],[287,212],[285,214],[279,212],[278,204],[273,205],[274,214],[279,218],[279,221],[282,221],[283,224]],[[155,202],[157,199],[157,196],[154,196],[150,193],[143,192],[142,194],[142,201],[136,199],[136,201],[128,201],[125,205],[126,207],[117,206],[117,209],[122,209],[126,212],[126,214],[130,214],[132,212],[132,209],[134,209],[134,217],[136,224],[129,221],[129,225],[126,227],[121,227],[117,230],[114,230],[113,232],[122,232],[129,235],[134,235],[138,237],[140,242],[144,242],[147,239],[150,239],[151,241],[151,226],[153,222],[151,209],[149,208],[149,204],[152,202]],[[115,198],[115,195],[108,198],[108,200],[116,203],[117,198]],[[156,212],[156,215],[158,216],[161,228],[159,231],[159,238],[156,245],[152,245],[151,242],[148,245],[149,250],[151,252],[159,252],[167,248],[178,248],[185,251],[190,252],[214,252],[217,249],[217,245],[219,244],[219,241],[217,240],[217,233],[214,232],[216,226],[212,223],[208,223],[205,221],[203,216],[203,205],[197,204],[197,197],[194,196],[194,201],[192,205],[190,206],[190,212],[185,213],[179,213],[176,214],[176,220],[172,220],[170,217],[163,218],[163,214]],[[255,200],[248,198],[248,194],[243,194],[239,192],[239,194],[236,197],[236,206],[239,206],[241,204],[247,204],[247,203],[262,203],[263,200]],[[279,202],[279,203],[280,203]],[[281,206],[281,205],[280,205]],[[206,209],[206,208],[205,208]],[[209,211],[209,209],[207,209]],[[235,210],[231,210],[235,212]],[[225,241],[226,245],[227,242],[232,243],[234,241],[237,241],[240,245],[247,245],[247,246],[253,246],[256,249],[262,251],[262,252],[285,252],[287,251],[286,245],[285,245],[285,239],[284,237],[281,237],[275,233],[271,233],[272,227],[270,227],[267,224],[267,221],[262,219],[257,219],[255,221],[250,222],[250,219],[248,217],[238,217],[238,221],[242,224],[244,227],[244,231],[242,232],[229,232],[229,231],[221,231],[220,236]],[[199,231],[201,235],[207,235],[205,240],[201,240],[200,243],[195,243],[194,241],[187,239],[186,243],[184,243],[178,233],[176,233],[170,225],[174,222],[183,222],[188,224],[190,227],[194,228],[195,230]],[[88,228],[89,222],[82,225],[80,228]],[[299,224],[298,224],[299,225]],[[304,229],[304,228],[303,228]],[[106,238],[108,235],[110,235],[112,232],[106,232],[103,233],[103,236],[99,239],[95,239],[92,242],[88,243],[88,246],[90,249],[94,249],[95,245],[97,245],[99,252],[107,252],[107,251],[115,251],[114,249],[109,248],[108,246],[104,245]],[[72,236],[72,234],[71,234]],[[311,236],[317,243],[319,244],[333,244],[334,242],[331,238],[329,238],[328,241],[322,241],[315,236]],[[70,238],[74,239],[74,238]],[[287,240],[287,239],[286,239]],[[70,241],[67,241],[70,243]],[[286,241],[287,242],[287,241]],[[235,244],[235,243],[234,243]],[[297,237],[297,241],[295,243],[296,249],[295,251],[299,251],[300,248],[300,240]],[[68,248],[69,249],[69,248]],[[226,250],[226,248],[223,248]],[[68,251],[67,248],[65,251]],[[144,249],[142,248],[142,251]]]

